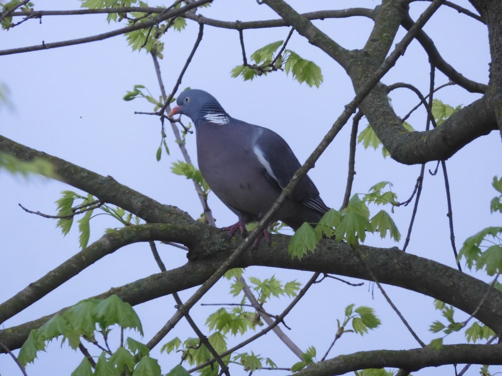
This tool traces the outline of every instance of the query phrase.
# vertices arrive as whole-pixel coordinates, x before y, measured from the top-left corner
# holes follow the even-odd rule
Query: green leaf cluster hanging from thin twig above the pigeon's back
[[[237,65],[231,70],[231,76],[241,76],[246,81],[273,71],[284,70],[288,75],[291,73],[299,83],[305,82],[310,87],[319,87],[323,81],[321,68],[294,51],[284,49],[277,52],[283,44],[284,41],[272,42],[256,50],[250,57],[255,64]]]

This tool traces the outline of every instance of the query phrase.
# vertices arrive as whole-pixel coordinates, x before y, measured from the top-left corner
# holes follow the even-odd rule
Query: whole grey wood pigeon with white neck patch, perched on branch
[[[223,229],[229,230],[229,237],[237,229],[244,233],[246,223],[259,221],[272,207],[300,162],[276,132],[234,119],[203,90],[186,90],[176,103],[169,117],[178,113],[192,119],[200,172],[214,194],[239,218]],[[296,231],[304,222],[318,223],[328,210],[312,180],[305,176],[275,220]],[[268,231],[262,235],[270,243]]]

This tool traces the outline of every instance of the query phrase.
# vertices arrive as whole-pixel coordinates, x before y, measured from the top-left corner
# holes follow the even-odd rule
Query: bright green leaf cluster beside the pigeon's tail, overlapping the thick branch
[[[386,187],[389,190],[384,191]],[[392,183],[382,181],[373,185],[367,194],[354,195],[349,200],[346,208],[337,211],[330,209],[314,228],[308,223],[304,223],[293,235],[288,246],[288,251],[292,258],[301,259],[307,252],[313,252],[317,243],[323,238],[335,238],[345,241],[356,247],[364,242],[366,233],[378,233],[383,239],[388,234],[397,242],[401,239],[401,234],[392,217],[384,210],[380,210],[370,218],[367,204],[376,206],[390,204],[394,207],[397,204],[397,195],[392,192]]]

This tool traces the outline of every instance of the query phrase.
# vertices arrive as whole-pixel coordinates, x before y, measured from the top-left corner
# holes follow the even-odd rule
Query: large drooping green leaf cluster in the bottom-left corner
[[[72,375],[159,375],[160,366],[149,356],[148,347],[128,337],[116,350],[109,347],[109,333],[118,325],[120,330],[134,329],[143,335],[141,321],[129,303],[116,295],[106,299],[86,299],[54,315],[37,330],[32,330],[21,347],[18,360],[25,366],[33,362],[47,343],[62,336],[61,345],[68,341],[72,349],[91,343],[100,351],[95,365],[84,357]],[[100,338],[100,340],[98,340]],[[100,343],[101,342],[101,343]],[[94,369],[93,369],[94,368]]]

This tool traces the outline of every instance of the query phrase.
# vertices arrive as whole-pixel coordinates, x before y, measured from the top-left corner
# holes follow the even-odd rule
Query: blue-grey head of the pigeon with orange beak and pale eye
[[[227,113],[208,92],[198,89],[189,89],[182,92],[176,100],[177,106],[169,112],[169,117],[174,114],[186,115],[195,123],[197,120],[214,118],[214,116],[228,117]]]

